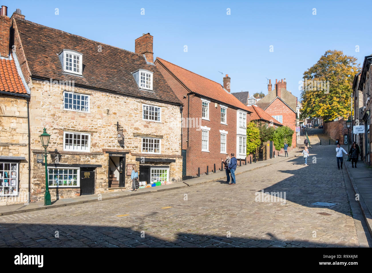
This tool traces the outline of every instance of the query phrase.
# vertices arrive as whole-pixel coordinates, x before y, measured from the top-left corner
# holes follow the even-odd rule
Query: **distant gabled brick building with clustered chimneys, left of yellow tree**
[[[267,85],[268,94],[257,101],[257,106],[267,114],[278,120],[283,126],[288,126],[296,132],[297,97],[287,90],[287,82],[275,80],[274,89],[271,90],[271,79]],[[292,147],[296,147],[296,133],[292,137]]]

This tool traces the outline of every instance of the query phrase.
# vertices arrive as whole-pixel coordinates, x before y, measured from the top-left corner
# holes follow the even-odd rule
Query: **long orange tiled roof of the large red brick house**
[[[249,111],[248,107],[241,103],[231,93],[227,92],[218,82],[207,79],[201,75],[191,72],[178,65],[172,64],[159,57],[156,58],[165,66],[175,77],[179,79],[191,92],[201,95],[202,97],[211,98],[222,104],[228,104],[244,111]]]

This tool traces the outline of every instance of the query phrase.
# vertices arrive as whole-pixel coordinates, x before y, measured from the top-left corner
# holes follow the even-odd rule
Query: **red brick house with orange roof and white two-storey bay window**
[[[160,58],[155,65],[182,101],[183,176],[193,177],[221,168],[221,159],[231,153],[246,158],[246,105],[230,93],[230,77],[224,86]]]

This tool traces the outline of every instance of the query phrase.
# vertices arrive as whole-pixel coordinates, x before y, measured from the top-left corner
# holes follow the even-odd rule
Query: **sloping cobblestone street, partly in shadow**
[[[238,175],[236,185],[217,181],[0,216],[0,246],[359,247],[347,174],[334,157],[334,145],[315,146],[308,166],[295,157]],[[286,201],[270,194],[256,202],[262,190]]]

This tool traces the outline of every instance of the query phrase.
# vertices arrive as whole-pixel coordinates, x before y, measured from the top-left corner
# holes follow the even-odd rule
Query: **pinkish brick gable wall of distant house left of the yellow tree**
[[[288,108],[279,98],[277,98],[269,107],[266,108],[265,112],[270,116],[283,116],[282,124],[284,126],[288,126],[292,130],[294,130],[294,134],[292,136],[292,146],[293,148],[296,147],[296,113]]]

